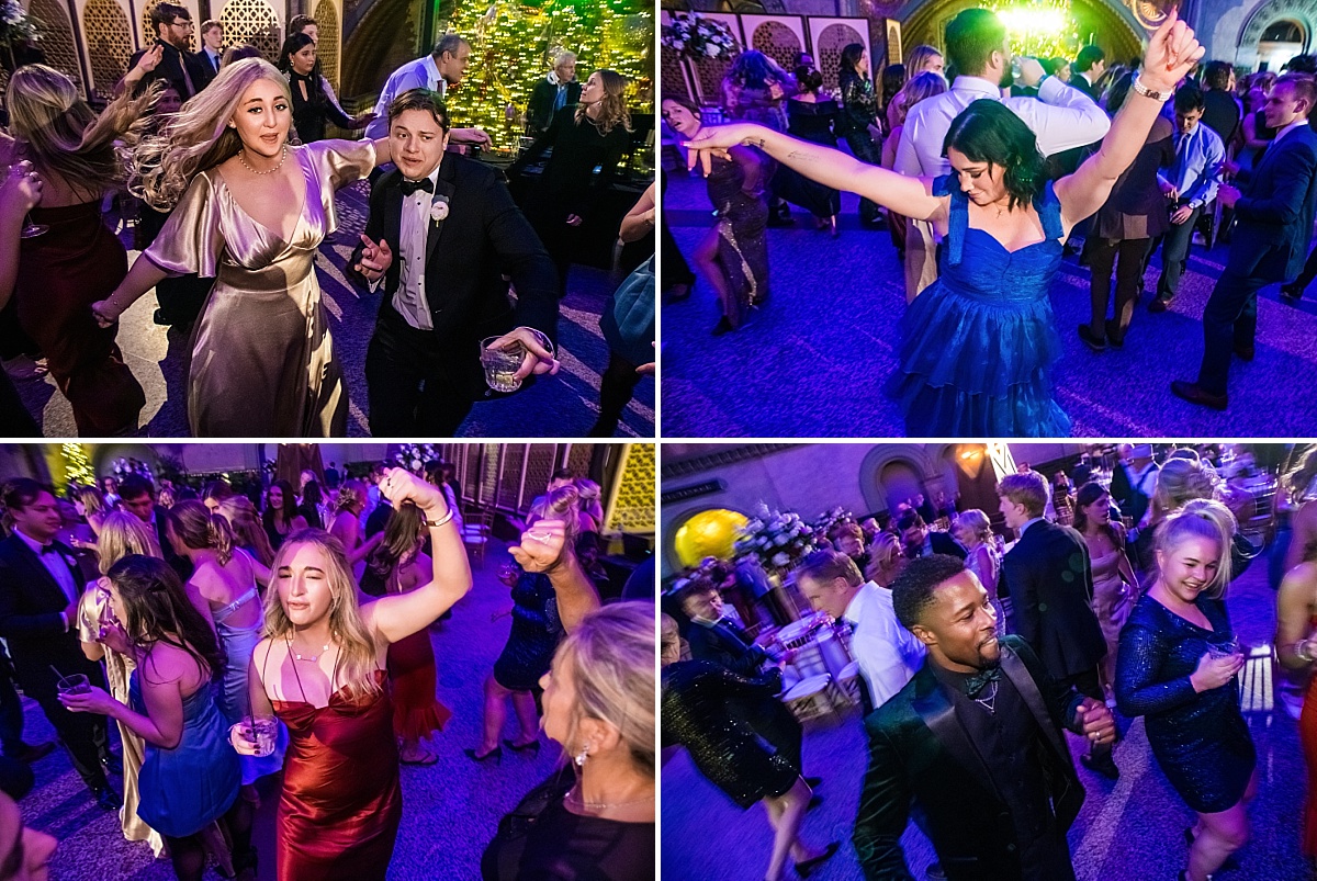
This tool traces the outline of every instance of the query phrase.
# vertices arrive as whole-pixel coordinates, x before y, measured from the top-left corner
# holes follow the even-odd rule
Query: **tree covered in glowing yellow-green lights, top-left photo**
[[[631,111],[653,112],[653,5],[643,0],[460,3],[440,29],[471,43],[470,67],[448,92],[453,125],[485,129],[495,150],[515,153],[531,92],[560,51],[577,54],[581,82],[618,71]]]

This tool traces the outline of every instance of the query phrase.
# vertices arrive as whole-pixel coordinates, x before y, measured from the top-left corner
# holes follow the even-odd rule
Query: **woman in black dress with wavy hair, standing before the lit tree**
[[[590,74],[581,87],[581,103],[554,113],[549,128],[507,170],[507,176],[515,178],[553,147],[525,213],[557,263],[558,296],[566,295],[582,225],[598,213],[601,194],[612,183],[631,140],[626,88],[622,74]]]

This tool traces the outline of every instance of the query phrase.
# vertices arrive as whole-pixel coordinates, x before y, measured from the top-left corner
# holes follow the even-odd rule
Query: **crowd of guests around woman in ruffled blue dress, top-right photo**
[[[718,212],[693,253],[720,304],[714,333],[739,328],[768,296],[765,229],[790,223],[788,203],[835,236],[838,192],[852,191],[861,227],[885,223],[903,265],[888,392],[906,433],[1065,436],[1048,291],[1063,255],[1077,252],[1071,240],[1083,238],[1090,273],[1092,316],[1077,334],[1101,353],[1125,345],[1131,324],[1158,321],[1134,312],[1159,249],[1144,299],[1148,312],[1171,308],[1201,232],[1229,238],[1230,254],[1204,312],[1197,374],[1171,391],[1225,410],[1231,361],[1255,354],[1259,288],[1284,282],[1283,300],[1295,303],[1317,275],[1317,257],[1305,267],[1317,58],[1237,80],[1231,65],[1202,55],[1171,14],[1129,66],[1108,67],[1097,46],[1073,63],[1013,59],[1001,18],[967,9],[947,25],[946,57],[918,46],[877,72],[863,45],[847,46],[835,97],[807,57],[788,72],[757,50],[727,71],[723,125],[665,95],[664,120]],[[670,238],[664,249],[665,290],[685,296],[695,277]]]

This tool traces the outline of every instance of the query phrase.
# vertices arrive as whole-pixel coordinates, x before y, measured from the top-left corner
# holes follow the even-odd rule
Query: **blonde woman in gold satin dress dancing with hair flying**
[[[173,215],[92,309],[108,324],[169,275],[215,278],[192,332],[196,437],[346,433],[315,258],[337,227],[335,191],[387,162],[389,141],[290,146],[291,124],[287,80],[249,58],[221,70],[134,155],[130,188]]]

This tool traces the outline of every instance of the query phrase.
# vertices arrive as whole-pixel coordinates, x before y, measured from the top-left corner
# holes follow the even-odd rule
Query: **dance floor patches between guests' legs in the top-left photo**
[[[344,266],[358,234],[366,228],[369,186],[358,182],[338,191],[340,229],[320,245],[316,267],[335,349],[342,361],[350,411],[348,435],[369,435],[366,411],[366,346],[375,328],[379,298],[344,278]],[[132,230],[122,236],[132,248]],[[129,252],[129,259],[137,257]],[[599,315],[618,279],[587,266],[574,266],[568,279],[568,296],[558,317],[558,345],[562,369],[557,377],[502,400],[475,404],[457,431],[458,437],[582,436],[599,415],[599,378],[608,365],[608,345],[599,333]],[[142,433],[150,437],[186,437],[187,369],[191,356],[188,334],[151,321],[155,296],[148,294],[124,315],[119,345],[137,381],[146,390]],[[68,402],[54,379],[16,382],[28,410],[40,414],[46,437],[78,433]],[[643,378],[636,398],[623,414],[620,436],[655,436],[655,381]]]

